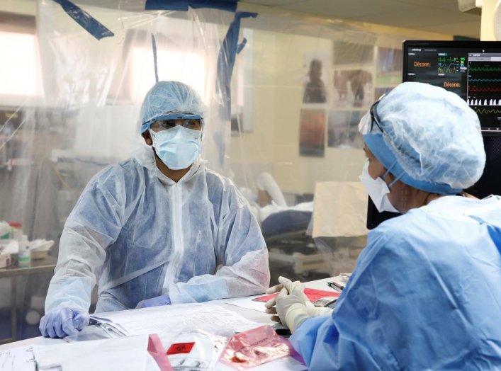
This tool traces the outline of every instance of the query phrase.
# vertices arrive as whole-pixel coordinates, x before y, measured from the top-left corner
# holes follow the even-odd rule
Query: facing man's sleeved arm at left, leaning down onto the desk
[[[99,176],[93,178],[64,224],[55,275],[45,299],[47,318],[66,318],[65,309],[72,309],[74,318],[89,311],[106,248],[116,241],[123,224],[123,189],[119,182],[110,180],[103,184]],[[47,318],[40,323],[41,331],[48,326]]]

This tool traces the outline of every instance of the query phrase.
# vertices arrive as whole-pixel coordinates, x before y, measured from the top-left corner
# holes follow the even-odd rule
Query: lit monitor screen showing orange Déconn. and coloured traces
[[[406,41],[403,80],[456,93],[478,114],[484,134],[501,135],[501,42]]]

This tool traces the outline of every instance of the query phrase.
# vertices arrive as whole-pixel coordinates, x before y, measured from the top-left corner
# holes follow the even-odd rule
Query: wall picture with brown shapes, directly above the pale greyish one
[[[368,69],[334,71],[334,108],[368,108],[372,103],[373,78]]]

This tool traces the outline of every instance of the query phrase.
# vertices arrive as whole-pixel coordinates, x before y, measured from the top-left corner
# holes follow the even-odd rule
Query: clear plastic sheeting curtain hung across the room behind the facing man
[[[235,35],[238,43],[246,38],[247,45],[235,60],[231,116],[223,118],[220,107],[228,97],[217,89],[218,56],[234,13],[145,11],[144,1],[76,4],[113,36],[98,40],[60,4],[39,0],[36,29],[23,44],[35,60],[16,79],[6,80],[7,89],[1,91],[6,98],[0,109],[0,219],[20,222],[30,240],[54,240],[54,261],[64,220],[87,181],[104,166],[127,159],[142,142],[140,103],[155,79],[152,35],[159,79],[191,84],[209,107],[203,139],[208,167],[231,176],[252,202],[263,231],[278,234],[304,232],[311,209],[302,204],[292,210],[298,213],[290,211],[313,198],[315,183],[358,181],[364,163],[356,131],[359,118],[400,81],[402,40],[420,38],[412,30],[403,35],[388,33],[388,28],[380,32],[243,4],[239,11],[259,16],[242,19]],[[16,36],[1,31],[2,42]],[[9,48],[8,58],[16,59],[16,47]],[[13,62],[13,74],[16,65],[31,60],[29,54],[23,56]],[[280,207],[271,202],[277,190],[286,201],[278,202]],[[354,261],[363,243],[358,237],[355,243],[351,237],[339,238],[337,244],[325,245],[328,261],[339,254]],[[299,246],[284,248],[282,256],[319,253],[311,240],[277,241],[269,239],[271,250]],[[290,259],[285,261],[288,271],[283,274],[291,273],[295,268]],[[335,270],[329,264],[322,267],[315,270]],[[277,273],[272,273],[274,279]],[[10,278],[0,277],[2,331],[9,329],[15,305],[18,336],[38,335],[36,322],[51,273],[43,274],[17,279],[17,303],[9,299]]]

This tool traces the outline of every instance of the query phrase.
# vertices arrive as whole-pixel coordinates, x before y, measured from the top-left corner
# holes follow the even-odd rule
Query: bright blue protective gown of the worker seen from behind
[[[370,232],[291,342],[310,370],[500,370],[500,324],[501,197],[446,196]]]

